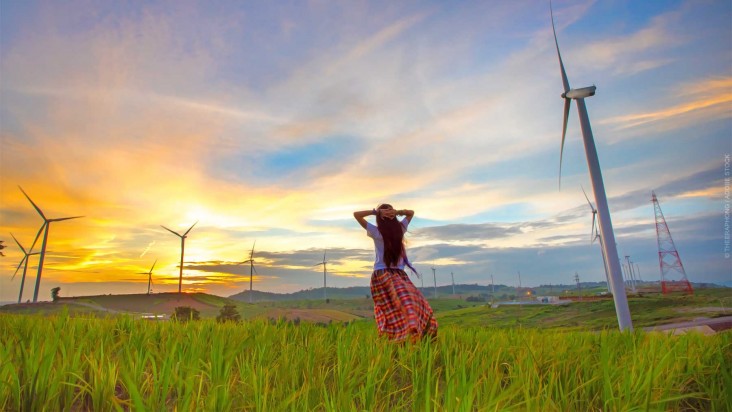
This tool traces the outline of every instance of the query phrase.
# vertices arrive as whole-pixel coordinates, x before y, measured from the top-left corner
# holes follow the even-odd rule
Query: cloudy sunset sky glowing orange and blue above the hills
[[[692,282],[732,282],[732,5],[553,3],[619,257],[660,279],[655,191]],[[368,286],[353,212],[412,209],[413,282],[603,281],[549,4],[0,0],[0,301],[50,225],[39,299]],[[373,219],[373,218],[369,218]],[[372,220],[373,222],[373,220]],[[33,249],[40,249],[41,241]],[[32,255],[22,300],[32,299]],[[671,273],[672,277],[678,274]],[[491,276],[493,280],[491,280]]]

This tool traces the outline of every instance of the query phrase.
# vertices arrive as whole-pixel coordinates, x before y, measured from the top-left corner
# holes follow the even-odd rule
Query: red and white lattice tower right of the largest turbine
[[[686,278],[686,271],[684,265],[681,263],[679,257],[679,251],[676,250],[673,238],[671,238],[671,231],[668,230],[666,224],[666,218],[663,217],[661,211],[661,205],[658,203],[656,193],[651,192],[653,195],[651,200],[653,201],[653,209],[656,212],[656,235],[658,238],[658,262],[661,266],[661,290],[664,294],[673,291],[685,291],[687,293],[694,293],[694,289],[689,283],[689,279]],[[679,279],[671,279],[669,277],[670,272],[680,274]]]

